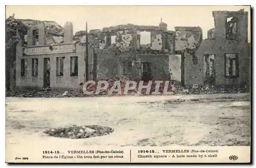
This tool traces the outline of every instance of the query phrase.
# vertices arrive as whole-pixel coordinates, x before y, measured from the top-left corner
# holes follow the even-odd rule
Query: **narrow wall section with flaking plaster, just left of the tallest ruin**
[[[203,85],[202,60],[195,54],[202,42],[201,27],[177,26],[175,30],[176,55],[170,55],[170,59],[180,59],[180,62],[178,62],[180,70],[173,68],[172,74],[176,79],[180,79],[184,86]]]

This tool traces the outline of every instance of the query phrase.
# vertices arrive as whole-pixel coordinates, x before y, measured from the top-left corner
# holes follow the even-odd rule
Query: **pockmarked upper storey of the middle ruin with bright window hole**
[[[77,32],[74,40],[85,43],[85,31]],[[89,43],[95,48],[115,48],[120,52],[137,51],[175,51],[175,32],[167,31],[167,24],[161,22],[159,26],[145,26],[125,24],[104,27],[101,30],[89,32]]]

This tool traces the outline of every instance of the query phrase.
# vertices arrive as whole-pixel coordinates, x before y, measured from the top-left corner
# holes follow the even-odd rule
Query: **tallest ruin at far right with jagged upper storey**
[[[196,51],[200,67],[196,72],[202,76],[199,84],[249,86],[248,12],[213,11],[212,16],[215,27]]]

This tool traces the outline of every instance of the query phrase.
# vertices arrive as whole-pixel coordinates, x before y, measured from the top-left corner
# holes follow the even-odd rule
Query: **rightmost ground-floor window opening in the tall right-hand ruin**
[[[225,71],[226,77],[237,77],[238,76],[238,57],[236,54],[226,54],[225,59]]]

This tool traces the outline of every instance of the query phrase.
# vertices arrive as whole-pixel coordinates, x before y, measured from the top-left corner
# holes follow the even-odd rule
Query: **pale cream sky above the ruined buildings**
[[[52,20],[61,26],[71,21],[74,34],[86,30],[86,21],[90,31],[127,23],[157,26],[162,18],[169,31],[175,26],[200,26],[205,39],[214,27],[212,11],[240,9],[248,11],[250,19],[249,6],[6,6],[6,18],[15,14],[18,19]]]

